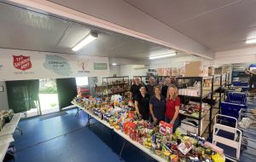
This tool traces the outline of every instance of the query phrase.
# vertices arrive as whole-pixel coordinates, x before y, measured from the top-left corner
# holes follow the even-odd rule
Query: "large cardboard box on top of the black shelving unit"
[[[191,61],[185,65],[184,77],[207,77],[208,67],[202,61]]]

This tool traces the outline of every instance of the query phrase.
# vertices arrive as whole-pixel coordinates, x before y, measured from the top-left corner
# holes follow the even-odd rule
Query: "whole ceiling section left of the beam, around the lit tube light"
[[[48,14],[20,9],[6,3],[0,3],[0,22],[0,48],[133,60],[147,60],[149,55],[166,50],[154,43],[84,26]],[[90,31],[97,32],[98,38],[83,49],[73,52],[73,46]]]

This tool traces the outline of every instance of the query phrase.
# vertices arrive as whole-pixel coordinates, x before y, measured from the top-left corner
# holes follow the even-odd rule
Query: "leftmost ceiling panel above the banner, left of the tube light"
[[[68,26],[67,21],[49,18],[0,3],[0,47],[15,49],[55,49]]]

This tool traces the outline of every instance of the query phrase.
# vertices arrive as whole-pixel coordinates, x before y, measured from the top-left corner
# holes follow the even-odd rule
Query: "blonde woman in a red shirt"
[[[170,85],[166,95],[166,114],[165,121],[173,125],[172,132],[175,132],[178,126],[178,113],[180,100],[177,96],[177,87]]]

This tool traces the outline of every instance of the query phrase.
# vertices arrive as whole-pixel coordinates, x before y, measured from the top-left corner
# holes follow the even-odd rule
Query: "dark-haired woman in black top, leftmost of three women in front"
[[[140,93],[138,93],[135,97],[135,108],[137,114],[144,120],[148,120],[149,118],[149,98],[150,95],[146,93],[145,85],[142,85],[140,88]]]

